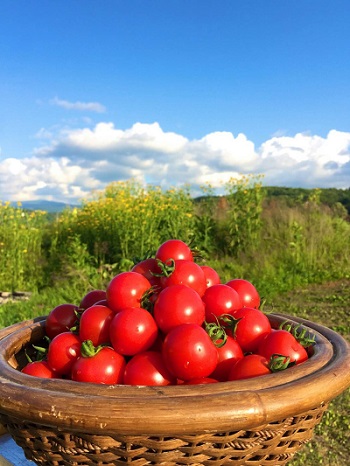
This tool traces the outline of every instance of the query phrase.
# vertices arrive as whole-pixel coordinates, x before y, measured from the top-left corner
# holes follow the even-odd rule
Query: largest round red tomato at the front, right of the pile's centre
[[[218,363],[218,353],[207,332],[196,324],[170,330],[163,343],[164,361],[181,380],[208,377]]]

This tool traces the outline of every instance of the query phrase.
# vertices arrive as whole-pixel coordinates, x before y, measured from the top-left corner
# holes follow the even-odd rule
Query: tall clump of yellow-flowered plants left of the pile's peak
[[[79,237],[98,266],[129,268],[133,257],[144,257],[168,238],[189,241],[193,203],[185,189],[162,191],[131,180],[112,183],[84,202],[66,210],[56,221],[58,248]]]

